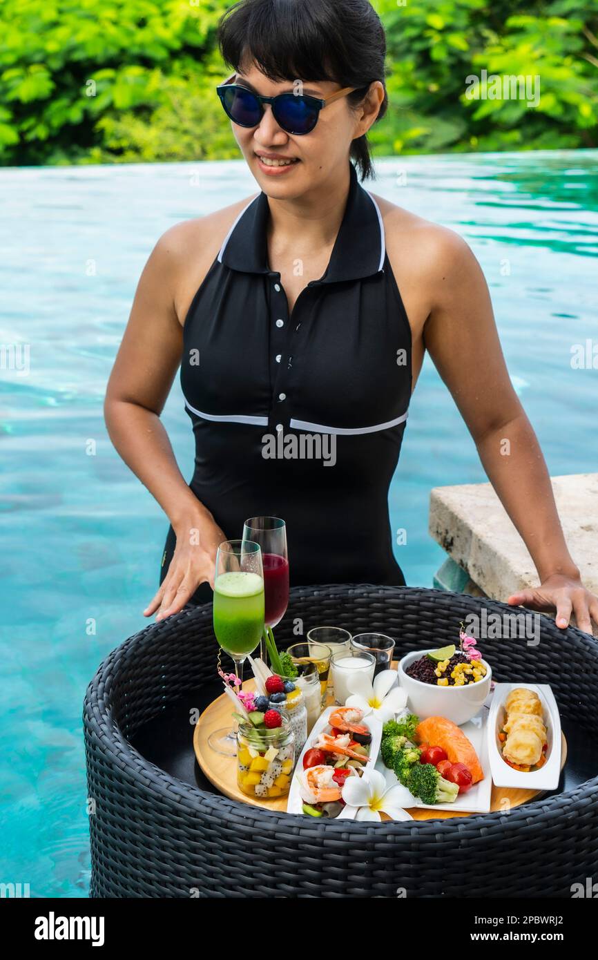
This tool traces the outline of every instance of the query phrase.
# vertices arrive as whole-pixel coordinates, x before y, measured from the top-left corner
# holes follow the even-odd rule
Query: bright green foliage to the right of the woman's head
[[[548,6],[543,0],[406,0],[405,6],[374,0],[373,6],[389,45],[391,108],[371,136],[379,153],[598,144],[597,0]],[[466,79],[482,70],[538,76],[538,106],[525,99],[468,99]]]

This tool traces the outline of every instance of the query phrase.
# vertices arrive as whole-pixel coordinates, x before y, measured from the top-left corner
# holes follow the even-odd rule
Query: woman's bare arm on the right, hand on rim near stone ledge
[[[598,598],[584,588],[567,549],[538,439],[516,396],[492,316],[490,294],[473,253],[456,234],[436,230],[433,306],[423,327],[429,350],[466,421],[492,487],[524,540],[540,587],[513,604],[557,610],[565,627],[598,624]]]

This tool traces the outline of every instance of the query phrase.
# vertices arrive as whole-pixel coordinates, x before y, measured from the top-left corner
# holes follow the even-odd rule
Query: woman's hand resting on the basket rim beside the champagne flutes
[[[156,621],[181,611],[200,584],[207,582],[214,589],[216,551],[227,540],[212,516],[183,522],[175,527],[175,534],[177,546],[168,573],[143,612],[152,616],[157,611]]]

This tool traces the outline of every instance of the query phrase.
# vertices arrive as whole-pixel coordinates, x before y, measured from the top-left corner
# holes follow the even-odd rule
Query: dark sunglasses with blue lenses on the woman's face
[[[357,89],[356,86],[346,86],[323,100],[304,93],[279,93],[275,97],[262,97],[247,86],[231,84],[232,77],[217,86],[216,92],[227,117],[233,123],[239,127],[258,127],[264,115],[264,104],[270,104],[278,126],[295,136],[312,132],[318,123],[320,110]]]

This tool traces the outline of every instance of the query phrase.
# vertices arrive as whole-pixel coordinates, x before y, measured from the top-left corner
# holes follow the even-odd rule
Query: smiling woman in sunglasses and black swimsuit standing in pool
[[[590,631],[598,600],[563,540],[475,258],[358,182],[387,107],[370,3],[242,0],[220,42],[234,73],[218,95],[260,193],[159,239],[108,384],[112,442],[171,523],[145,614],[208,600],[219,542],[256,515],[287,521],[292,584],[404,584],[388,489],[427,349],[538,568],[538,589],[510,602],[556,608],[560,626],[574,610]],[[159,420],[179,365],[189,486]]]

